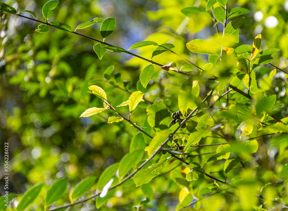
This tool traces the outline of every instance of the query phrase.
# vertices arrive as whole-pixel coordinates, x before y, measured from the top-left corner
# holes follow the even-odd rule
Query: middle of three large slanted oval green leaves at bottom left
[[[67,185],[67,178],[62,177],[56,180],[47,191],[45,204],[50,206],[51,204],[58,201],[58,199],[60,199],[63,193],[66,191]]]

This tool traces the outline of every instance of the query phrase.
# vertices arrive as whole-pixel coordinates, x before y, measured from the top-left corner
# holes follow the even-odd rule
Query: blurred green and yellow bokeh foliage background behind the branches
[[[4,1],[17,11],[28,9],[44,21],[41,14],[46,1]],[[68,24],[74,30],[77,25],[95,17],[116,18],[115,31],[105,40],[126,50],[134,43],[151,40],[157,43],[172,42],[175,52],[203,66],[208,62],[205,55],[190,54],[186,43],[194,38],[206,39],[215,34],[212,21],[207,24],[189,21],[180,10],[187,6],[202,6],[205,1],[186,0],[60,0],[50,20]],[[253,43],[256,35],[262,34],[263,48],[278,48],[273,64],[287,67],[288,58],[288,1],[229,1],[230,7],[249,9],[240,30],[241,44]],[[228,7],[229,7],[228,6]],[[29,14],[24,14],[30,16]],[[145,99],[163,99],[172,110],[177,111],[177,91],[181,75],[166,72],[155,66],[150,85],[145,90],[139,85],[139,75],[149,64],[138,58],[121,53],[107,52],[99,60],[93,50],[96,42],[72,33],[50,28],[47,33],[37,33],[37,22],[0,12],[0,183],[3,183],[4,142],[9,142],[10,191],[23,193],[38,182],[52,184],[62,176],[69,178],[69,186],[77,184],[86,176],[99,178],[100,174],[129,151],[132,137],[137,133],[128,123],[107,124],[112,112],[101,113],[89,118],[79,118],[90,107],[102,107],[103,102],[87,93],[88,86],[96,84],[104,88],[113,102],[118,105],[128,100],[130,94],[114,87],[103,79],[107,67],[114,65],[114,73],[121,73],[120,87],[130,92],[144,90]],[[32,16],[31,16],[32,17]],[[223,26],[218,24],[219,31]],[[90,37],[102,39],[100,24],[78,30]],[[238,46],[238,45],[236,45]],[[155,46],[143,50],[132,50],[145,58],[151,58]],[[183,58],[165,52],[156,62],[185,64]],[[263,69],[269,72],[269,70]],[[277,73],[278,74],[278,73]],[[279,73],[281,74],[281,73]],[[281,76],[281,75],[280,75]],[[278,77],[280,78],[278,75]],[[94,81],[93,81],[94,80]],[[113,81],[113,79],[111,79]],[[109,81],[110,82],[110,81]],[[277,75],[275,79],[277,82]],[[282,88],[281,88],[282,89]],[[277,92],[281,92],[278,90]],[[137,108],[137,123],[153,130],[147,123],[145,107]],[[120,111],[127,112],[125,108]],[[132,119],[133,121],[133,119]],[[146,140],[147,143],[149,139]],[[154,181],[157,183],[157,179]],[[153,186],[155,199],[151,210],[172,210],[178,203],[177,187],[166,191],[170,184],[161,180],[162,186]],[[172,187],[173,188],[173,187]],[[92,190],[96,189],[96,184]],[[0,189],[3,194],[3,186]],[[133,182],[127,182],[125,190],[119,190],[107,208],[129,210],[141,198],[135,192]],[[179,191],[179,190],[178,190]],[[174,194],[175,192],[175,194]],[[68,202],[64,195],[57,204]],[[118,204],[114,206],[115,204]],[[32,210],[41,210],[41,197]],[[83,206],[83,207],[82,207]],[[106,208],[102,208],[105,210]],[[73,210],[96,210],[91,201],[75,206]]]

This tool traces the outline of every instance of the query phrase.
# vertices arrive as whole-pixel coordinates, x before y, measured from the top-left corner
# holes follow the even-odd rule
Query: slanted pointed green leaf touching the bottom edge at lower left
[[[22,211],[25,210],[29,205],[31,205],[34,200],[37,198],[39,195],[44,183],[41,183],[39,185],[36,185],[32,188],[30,188],[24,195],[21,197],[20,202],[17,205],[16,210],[17,211]]]

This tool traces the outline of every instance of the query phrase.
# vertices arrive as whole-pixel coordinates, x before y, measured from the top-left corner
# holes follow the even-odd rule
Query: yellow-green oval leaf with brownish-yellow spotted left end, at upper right
[[[197,54],[214,54],[218,55],[217,51],[211,48],[211,43],[204,39],[193,39],[186,44],[187,48]]]

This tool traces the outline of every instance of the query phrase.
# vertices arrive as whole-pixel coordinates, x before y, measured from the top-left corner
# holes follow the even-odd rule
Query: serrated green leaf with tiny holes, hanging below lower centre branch
[[[133,178],[136,187],[149,183],[154,177],[160,174],[160,172],[162,172],[167,165],[168,159],[164,158],[158,161],[156,164],[138,171]]]

